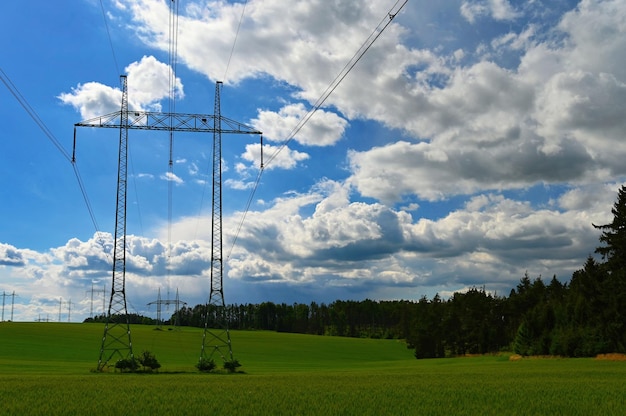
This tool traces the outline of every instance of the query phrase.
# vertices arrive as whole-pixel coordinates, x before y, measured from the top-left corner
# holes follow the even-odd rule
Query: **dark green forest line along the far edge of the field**
[[[611,212],[611,223],[594,225],[601,260],[590,255],[568,283],[526,273],[508,296],[474,287],[449,299],[233,304],[224,316],[231,329],[403,339],[416,358],[626,353],[626,187]],[[170,321],[203,327],[206,313],[205,305],[184,307]]]

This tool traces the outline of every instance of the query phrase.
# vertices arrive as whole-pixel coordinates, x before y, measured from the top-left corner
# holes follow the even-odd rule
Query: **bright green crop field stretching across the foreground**
[[[240,374],[200,374],[197,328],[133,326],[157,374],[95,373],[103,325],[0,323],[0,415],[621,415],[626,362],[416,360],[397,340],[231,331]]]

